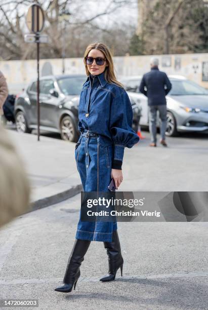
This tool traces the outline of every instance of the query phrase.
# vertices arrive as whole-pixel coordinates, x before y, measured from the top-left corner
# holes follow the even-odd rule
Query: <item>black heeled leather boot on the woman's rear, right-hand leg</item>
[[[100,281],[112,281],[115,279],[117,270],[120,268],[122,277],[123,258],[120,250],[120,242],[117,230],[113,231],[112,242],[104,242],[104,247],[108,254],[108,275],[100,279]]]

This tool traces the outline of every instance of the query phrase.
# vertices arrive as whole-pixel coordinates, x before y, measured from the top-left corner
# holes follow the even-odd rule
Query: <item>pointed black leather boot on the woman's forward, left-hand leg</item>
[[[76,287],[76,282],[80,277],[79,267],[81,262],[84,260],[84,256],[88,251],[91,241],[76,239],[74,242],[73,249],[68,259],[66,272],[63,279],[63,285],[57,287],[55,291],[69,293]]]

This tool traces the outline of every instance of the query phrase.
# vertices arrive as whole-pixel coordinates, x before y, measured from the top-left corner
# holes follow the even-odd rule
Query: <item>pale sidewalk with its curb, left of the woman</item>
[[[32,210],[68,199],[82,190],[74,159],[75,143],[8,131],[22,156],[31,184]]]

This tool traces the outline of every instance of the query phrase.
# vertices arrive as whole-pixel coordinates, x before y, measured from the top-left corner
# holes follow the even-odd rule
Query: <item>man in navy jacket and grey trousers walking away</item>
[[[150,146],[156,146],[156,116],[159,110],[160,118],[160,143],[167,146],[165,142],[165,131],[167,121],[167,102],[165,96],[170,92],[172,85],[165,72],[159,71],[159,61],[157,58],[151,58],[151,71],[143,75],[140,92],[147,96],[149,106],[149,131],[151,134]]]

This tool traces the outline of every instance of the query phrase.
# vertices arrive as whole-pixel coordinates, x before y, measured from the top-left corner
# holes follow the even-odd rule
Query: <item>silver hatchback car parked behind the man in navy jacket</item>
[[[142,106],[141,126],[149,125],[147,97],[139,92],[142,76],[131,76],[120,79],[125,89],[130,92],[138,104]],[[168,136],[176,136],[179,132],[208,133],[208,91],[198,84],[187,80],[184,76],[169,75],[172,84],[167,99],[167,131]],[[159,126],[159,119],[157,121]]]

